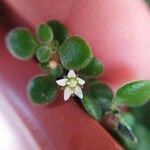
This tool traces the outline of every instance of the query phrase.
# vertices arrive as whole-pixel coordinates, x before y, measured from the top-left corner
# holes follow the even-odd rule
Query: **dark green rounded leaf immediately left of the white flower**
[[[52,75],[37,76],[29,82],[28,92],[35,104],[48,104],[54,101],[57,85]]]

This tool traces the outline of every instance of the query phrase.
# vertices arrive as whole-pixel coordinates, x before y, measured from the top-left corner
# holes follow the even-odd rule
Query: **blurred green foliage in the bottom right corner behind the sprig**
[[[130,115],[134,117],[135,123],[131,126],[135,132],[138,143],[136,145],[131,144],[129,141],[125,141],[127,148],[130,150],[149,150],[150,148],[150,103],[147,103],[141,107],[129,108]],[[125,113],[126,114],[126,113]],[[128,113],[129,114],[129,113]]]

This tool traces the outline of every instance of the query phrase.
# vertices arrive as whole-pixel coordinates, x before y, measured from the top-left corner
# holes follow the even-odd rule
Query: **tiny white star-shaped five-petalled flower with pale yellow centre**
[[[85,81],[77,77],[73,70],[68,72],[68,75],[64,79],[57,80],[56,83],[64,89],[64,100],[67,101],[70,96],[75,94],[80,99],[83,98],[83,92],[81,86],[84,85]]]

